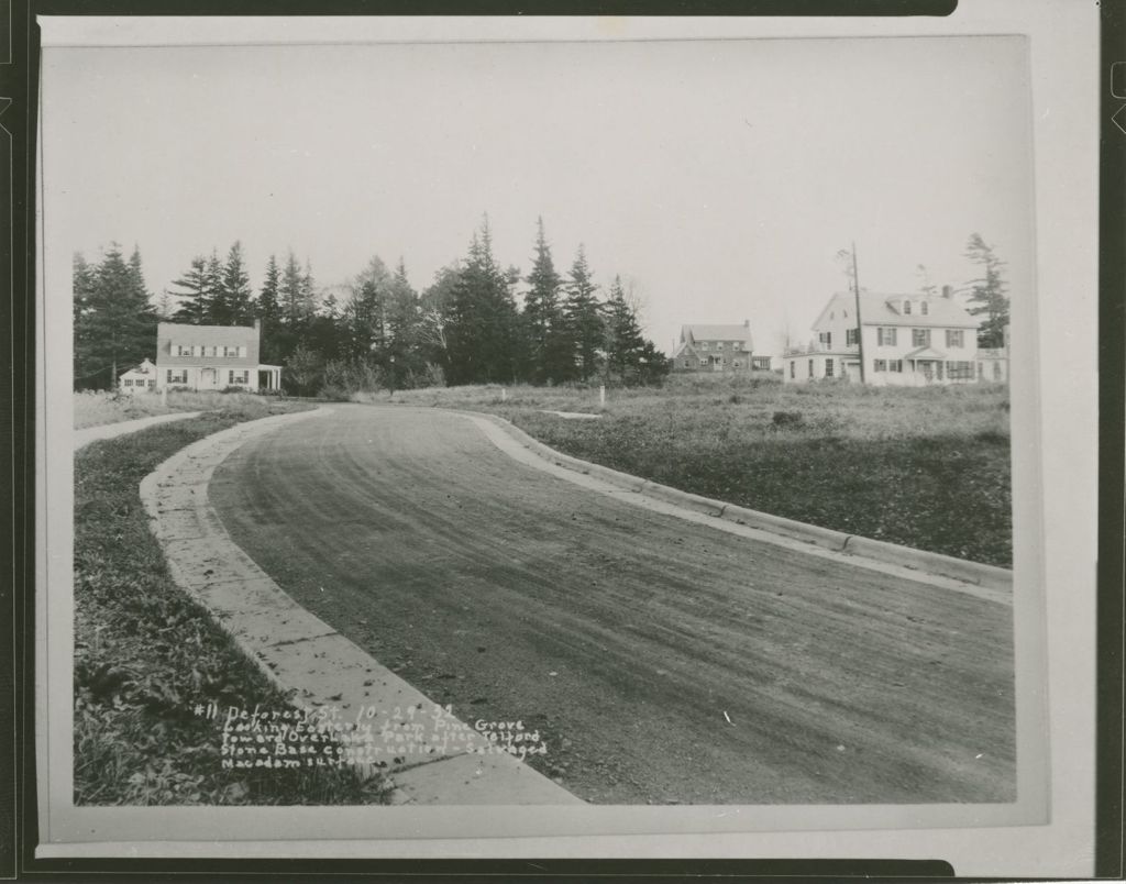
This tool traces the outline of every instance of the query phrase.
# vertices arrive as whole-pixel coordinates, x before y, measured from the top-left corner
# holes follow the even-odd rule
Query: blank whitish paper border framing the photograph
[[[941,19],[41,18],[45,51],[73,45],[1024,35],[1033,89],[1030,97],[1013,100],[1031,100],[1038,296],[1035,310],[1013,310],[1013,456],[1015,480],[1030,483],[1034,494],[1042,490],[1043,499],[1035,509],[1015,508],[1013,534],[1021,538],[1015,584],[1034,597],[1015,607],[1020,636],[1016,670],[1018,697],[1049,708],[1051,788],[1034,795],[1046,819],[1035,825],[1003,825],[991,812],[993,805],[969,804],[521,807],[490,809],[488,818],[457,807],[72,807],[71,339],[69,298],[60,295],[70,291],[70,250],[51,248],[47,223],[41,227],[45,251],[38,256],[37,730],[46,749],[38,756],[43,843],[36,856],[896,857],[945,859],[959,875],[1092,873],[1099,70],[1098,9],[1081,6],[1065,11],[1051,0],[994,0],[963,3],[956,15]],[[1057,359],[1060,341],[1066,341],[1067,351]],[[1028,493],[1027,485],[1015,481],[1015,499],[1027,500]],[[1046,639],[1040,632],[1045,624]],[[1038,712],[1026,703],[1018,715],[1031,716],[1035,726]],[[1027,739],[1027,724],[1018,726],[1018,740]],[[1030,749],[1027,742],[1018,745],[1022,777]],[[1035,780],[1021,779],[1022,796],[1035,788]],[[944,821],[933,822],[936,810],[948,813]],[[607,831],[608,820],[623,833],[598,834]],[[193,840],[164,840],[171,831]],[[232,831],[245,840],[226,840]],[[373,832],[381,837],[374,839]],[[468,837],[450,837],[454,832]]]

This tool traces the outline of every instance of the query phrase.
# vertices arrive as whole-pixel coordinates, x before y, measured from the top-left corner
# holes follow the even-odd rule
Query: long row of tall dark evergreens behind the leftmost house
[[[155,303],[154,303],[155,301]],[[270,256],[252,291],[242,245],[196,256],[160,298],[146,291],[140,250],[116,243],[97,265],[74,257],[74,383],[106,389],[153,358],[159,321],[261,322],[263,364],[283,365],[297,394],[434,384],[659,383],[668,359],[642,333],[637,305],[616,276],[605,296],[580,245],[555,269],[543,220],[531,270],[502,268],[485,217],[467,255],[417,292],[400,259],[379,257],[349,283],[319,289],[293,250]]]

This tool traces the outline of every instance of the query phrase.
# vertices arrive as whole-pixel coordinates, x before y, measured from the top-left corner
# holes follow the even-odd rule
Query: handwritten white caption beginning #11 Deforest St
[[[547,754],[538,730],[520,720],[472,725],[450,706],[340,706],[272,708],[197,704],[197,717],[214,720],[224,768],[383,768],[413,758],[508,753],[519,759]]]

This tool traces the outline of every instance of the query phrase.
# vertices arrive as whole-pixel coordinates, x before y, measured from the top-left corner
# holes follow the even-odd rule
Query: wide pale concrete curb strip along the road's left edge
[[[141,482],[141,499],[177,584],[304,711],[370,734],[361,771],[382,771],[395,804],[582,804],[516,756],[498,751],[287,596],[227,535],[207,499],[215,468],[252,438],[328,414],[279,414],[177,452]]]

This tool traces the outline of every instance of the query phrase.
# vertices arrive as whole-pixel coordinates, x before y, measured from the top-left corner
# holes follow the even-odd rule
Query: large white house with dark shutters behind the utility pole
[[[860,381],[863,341],[868,384],[993,380],[984,377],[980,367],[977,325],[949,286],[941,295],[864,292],[859,319],[856,295],[838,292],[813,323],[816,338],[786,350],[783,377],[787,383],[826,377]]]

